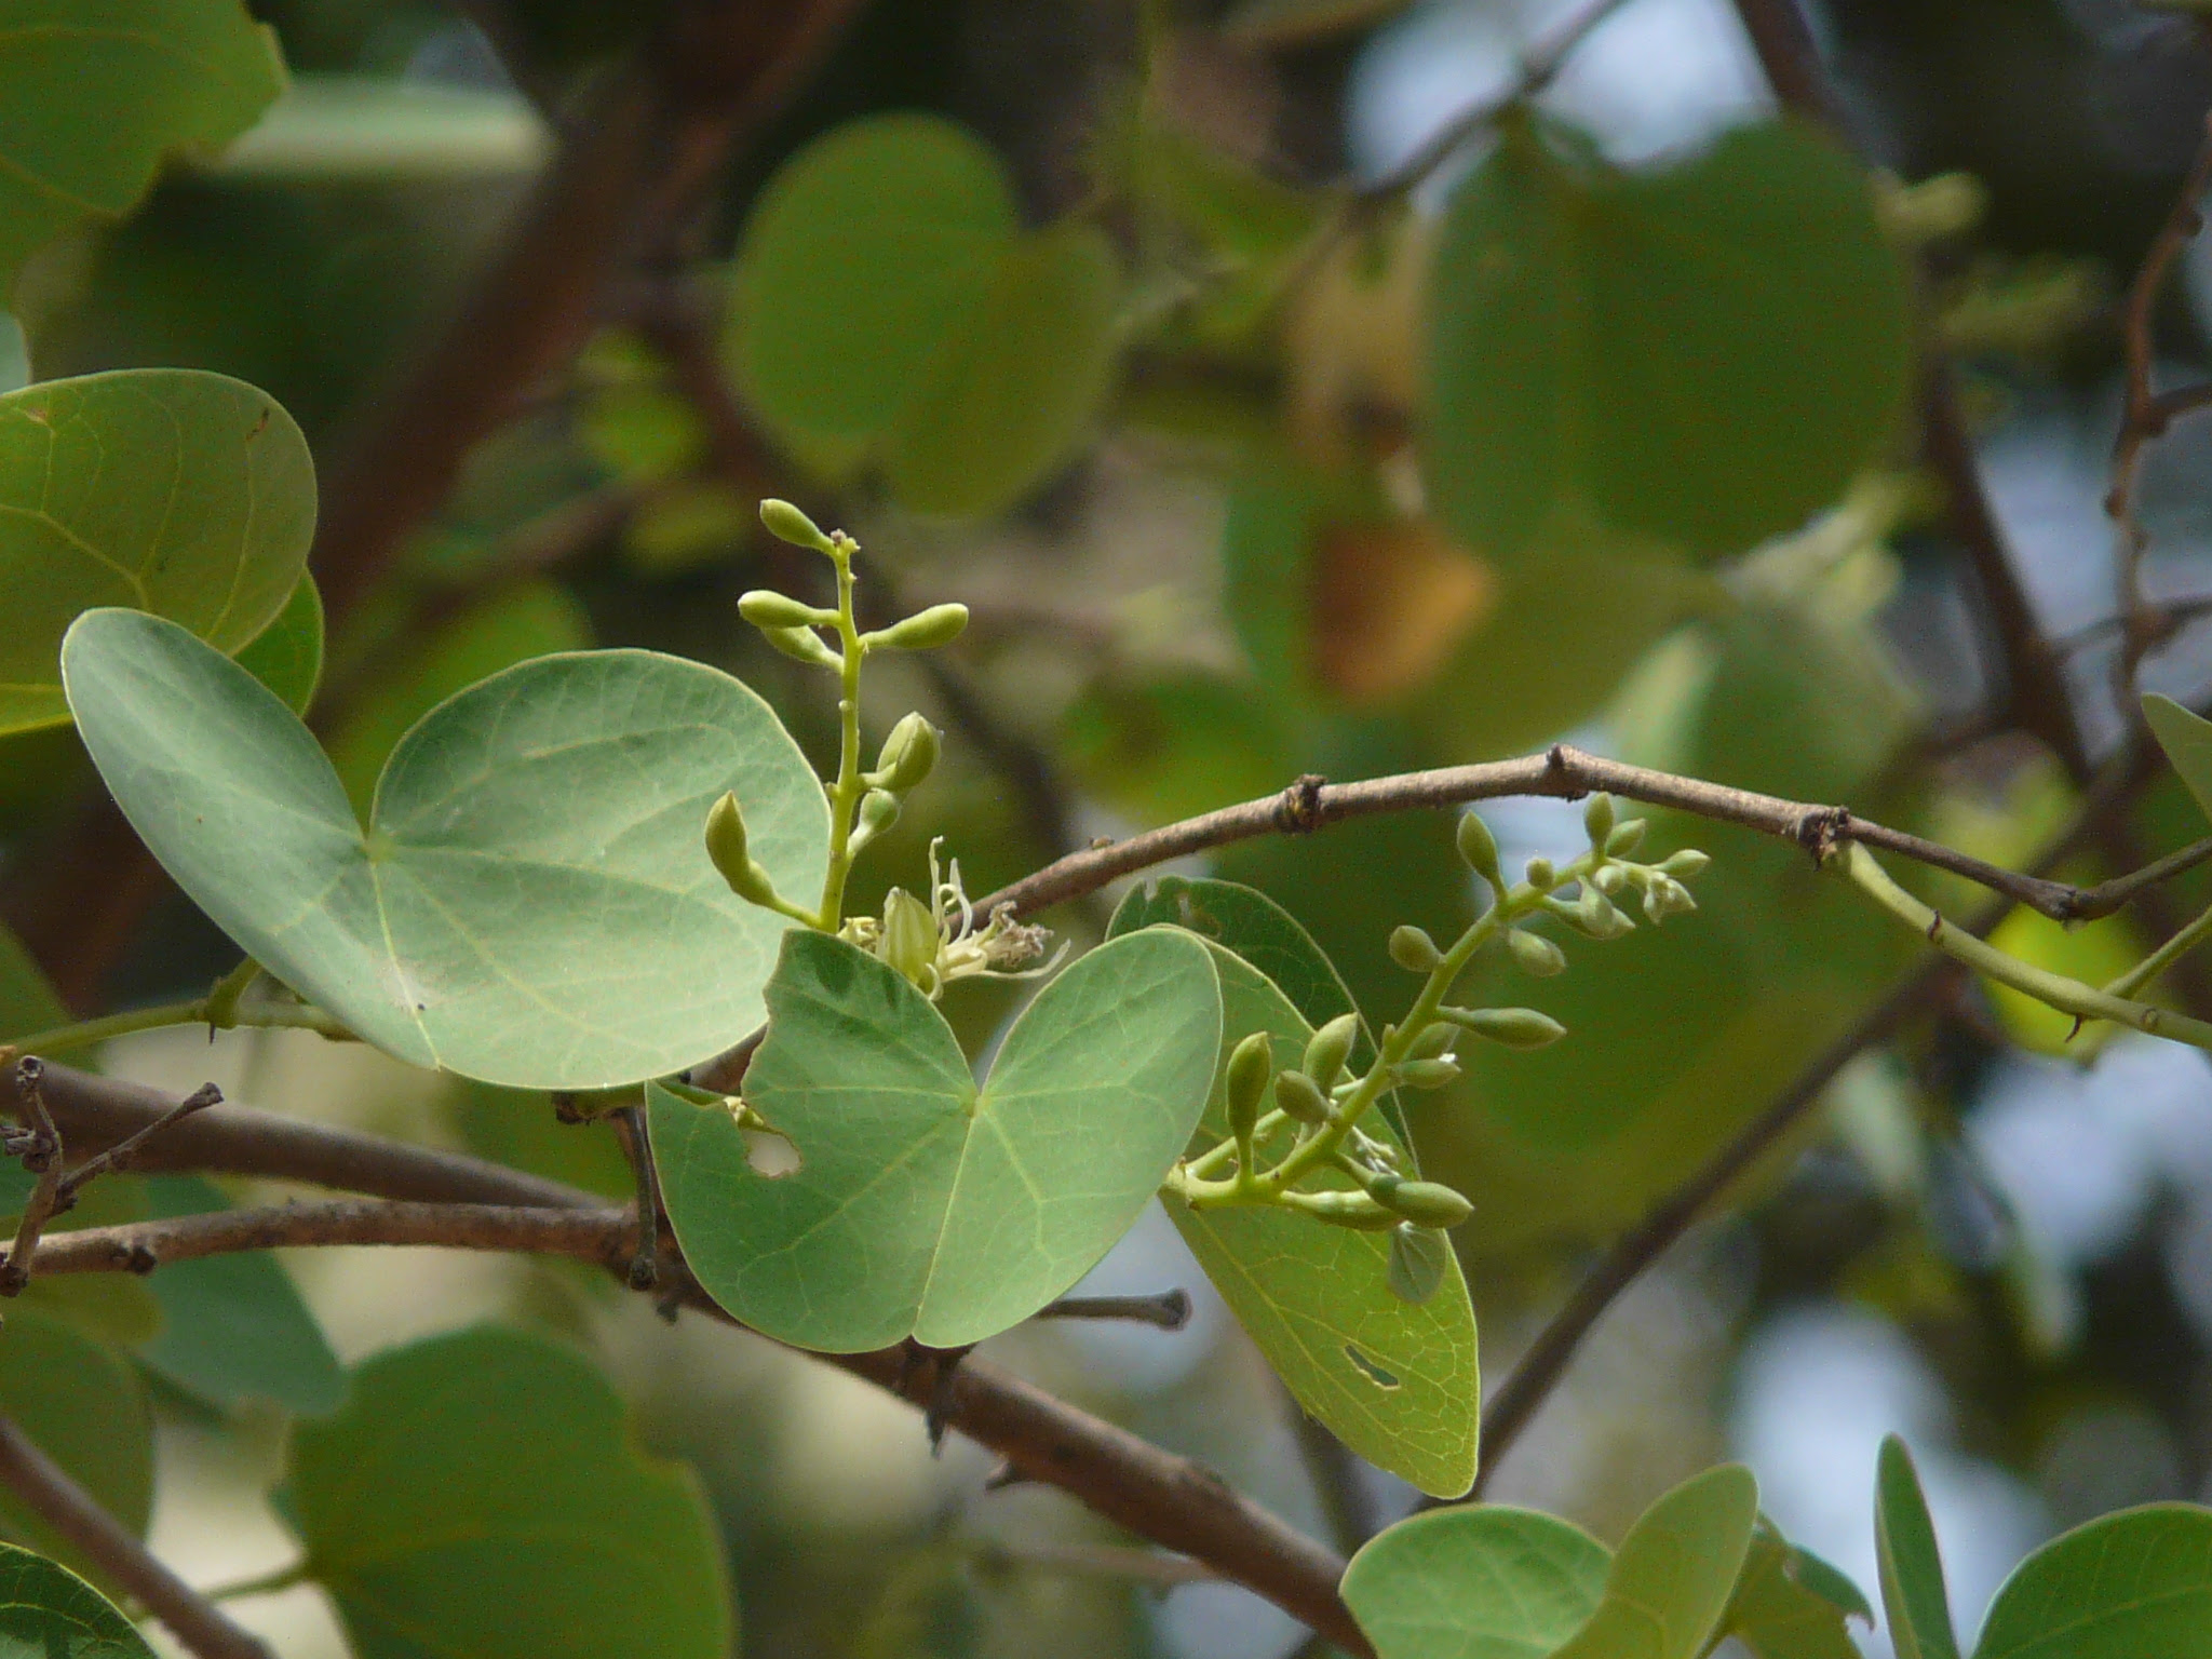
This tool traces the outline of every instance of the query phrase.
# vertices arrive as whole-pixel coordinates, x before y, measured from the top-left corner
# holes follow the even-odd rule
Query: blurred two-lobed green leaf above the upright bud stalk
[[[998,157],[936,115],[816,139],[745,226],[730,356],[763,425],[925,513],[991,513],[1106,394],[1121,276],[1097,228],[1024,232]]]

